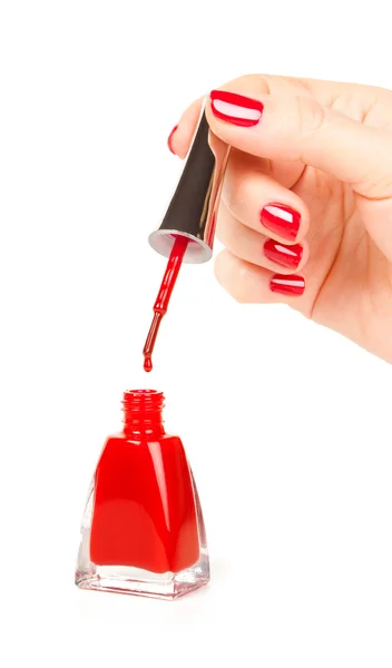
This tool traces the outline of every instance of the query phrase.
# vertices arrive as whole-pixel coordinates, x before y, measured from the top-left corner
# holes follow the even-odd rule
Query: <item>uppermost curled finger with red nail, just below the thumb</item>
[[[284,244],[302,242],[307,234],[304,202],[238,151],[228,161],[223,202],[234,218]]]

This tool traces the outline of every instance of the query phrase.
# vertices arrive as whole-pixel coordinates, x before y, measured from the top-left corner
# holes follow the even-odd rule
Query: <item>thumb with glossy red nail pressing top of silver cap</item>
[[[214,90],[206,112],[213,132],[226,144],[271,160],[298,160],[351,185],[369,233],[392,261],[391,132],[296,95]],[[376,220],[370,216],[375,200],[382,202]]]

